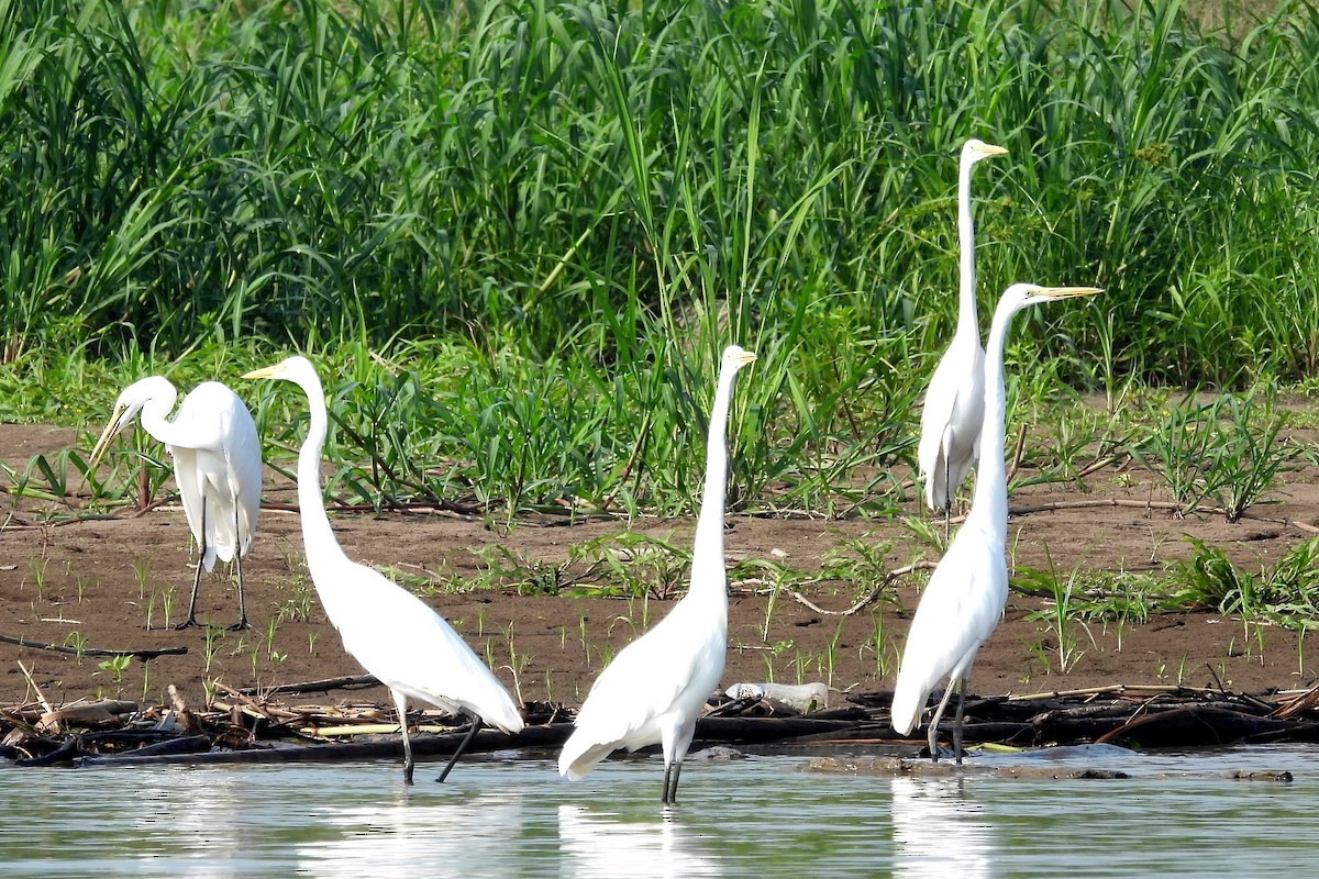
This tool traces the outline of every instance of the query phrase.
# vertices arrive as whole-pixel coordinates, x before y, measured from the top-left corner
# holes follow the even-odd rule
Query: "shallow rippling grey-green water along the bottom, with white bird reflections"
[[[1013,763],[1042,758],[979,758]],[[869,778],[799,758],[0,770],[0,876],[1312,875],[1319,750],[1088,752],[1132,779]],[[1290,770],[1291,784],[1223,778]]]

